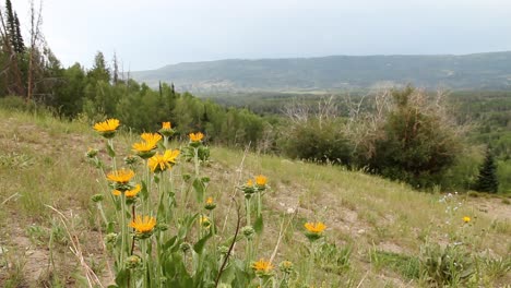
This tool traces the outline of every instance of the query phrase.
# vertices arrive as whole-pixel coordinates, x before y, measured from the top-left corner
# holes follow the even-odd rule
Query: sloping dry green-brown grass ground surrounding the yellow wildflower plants
[[[102,192],[103,177],[84,157],[88,147],[106,154],[103,141],[88,123],[60,122],[45,113],[0,110],[0,286],[86,287],[83,275],[91,268],[106,287],[111,257],[90,199],[109,192]],[[123,132],[116,143],[129,152],[136,139]],[[456,254],[460,263],[472,262],[466,285],[511,281],[509,199],[419,193],[342,167],[223,147],[212,147],[211,158],[203,172],[218,200],[217,225],[226,219],[227,230],[235,226],[229,207],[231,196],[240,196],[236,187],[254,175],[268,176],[259,254],[270,256],[281,223],[289,219],[275,263],[290,260],[298,275],[307,274],[304,223],[325,223],[326,244],[309,272],[314,287],[427,287],[424,263],[428,256],[435,261],[433,243],[456,243],[468,253]],[[176,175],[190,169],[186,163],[179,167]],[[464,216],[471,221],[465,224]]]

